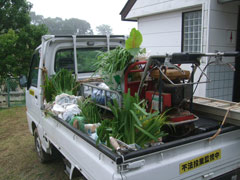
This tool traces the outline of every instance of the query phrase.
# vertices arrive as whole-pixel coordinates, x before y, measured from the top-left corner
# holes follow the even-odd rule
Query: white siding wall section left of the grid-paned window
[[[181,23],[181,11],[139,18],[142,47],[147,48],[150,54],[180,52]]]

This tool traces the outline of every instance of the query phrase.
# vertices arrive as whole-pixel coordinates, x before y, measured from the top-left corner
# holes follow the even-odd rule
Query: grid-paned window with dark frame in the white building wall
[[[183,13],[183,52],[201,51],[202,11]]]

